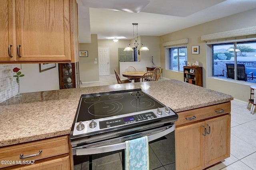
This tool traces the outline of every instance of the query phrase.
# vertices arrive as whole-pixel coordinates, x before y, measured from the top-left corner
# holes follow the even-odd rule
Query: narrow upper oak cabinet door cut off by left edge
[[[0,61],[16,61],[15,3],[0,2]],[[10,53],[10,55],[9,55]]]

